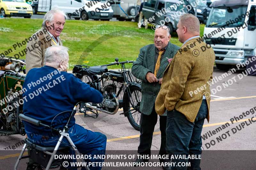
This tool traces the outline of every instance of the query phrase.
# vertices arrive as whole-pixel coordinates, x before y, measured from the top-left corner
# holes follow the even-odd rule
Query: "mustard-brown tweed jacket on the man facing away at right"
[[[190,49],[184,50],[187,45]],[[173,57],[164,72],[161,89],[156,97],[155,108],[158,115],[164,114],[166,109],[169,111],[175,109],[185,115],[188,121],[194,122],[205,95],[209,122],[211,99],[208,81],[212,80],[215,54],[212,48],[203,51],[201,47],[205,45],[204,42],[194,38],[181,47],[183,49],[181,54],[178,51]],[[198,88],[199,91],[193,93],[191,97],[191,92],[195,92]]]

